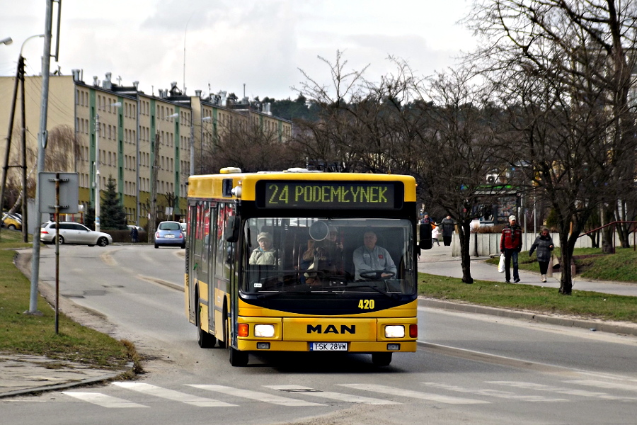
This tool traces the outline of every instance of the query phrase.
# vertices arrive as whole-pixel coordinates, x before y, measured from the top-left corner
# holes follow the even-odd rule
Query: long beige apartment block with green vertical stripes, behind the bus
[[[128,224],[147,225],[153,194],[158,220],[178,220],[185,214],[188,176],[204,169],[200,164],[202,150],[211,149],[230,128],[253,123],[274,130],[281,141],[292,135],[292,123],[270,115],[267,106],[265,112],[253,111],[247,101],[229,102],[224,92],[206,98],[201,91],[186,96],[176,83],[155,96],[140,91],[137,81],[132,86],[115,84],[111,75],[105,74],[102,81],[93,77],[86,83],[82,72],[74,70],[71,76],[52,75],[49,82],[45,171],[79,174],[79,200],[84,211],[95,205],[96,179],[104,191],[112,178]],[[15,77],[0,77],[1,164],[6,157],[14,84]],[[41,77],[25,77],[30,185],[37,179],[41,84]],[[18,99],[18,109],[19,104]],[[21,186],[17,166],[23,161],[20,115],[16,111],[8,162],[8,182],[15,186]]]

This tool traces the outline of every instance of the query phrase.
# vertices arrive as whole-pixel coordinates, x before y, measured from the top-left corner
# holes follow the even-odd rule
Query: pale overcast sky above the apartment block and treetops
[[[64,0],[59,67],[83,69],[84,81],[106,72],[150,94],[171,81],[188,94],[224,90],[243,96],[296,98],[303,69],[327,83],[333,61],[344,52],[347,70],[369,64],[365,77],[378,81],[401,57],[420,75],[457,63],[475,45],[457,24],[471,0]],[[16,73],[21,45],[44,32],[45,0],[0,0],[0,75]],[[54,10],[57,8],[54,6]],[[54,23],[55,28],[55,23]],[[55,29],[54,29],[55,32]],[[184,60],[185,46],[185,60]],[[43,42],[23,49],[27,74],[39,74]],[[185,63],[185,74],[184,74]],[[210,86],[210,89],[209,89]]]

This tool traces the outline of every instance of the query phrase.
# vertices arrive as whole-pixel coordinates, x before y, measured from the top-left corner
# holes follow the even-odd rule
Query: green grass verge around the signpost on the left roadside
[[[121,369],[128,362],[139,370],[139,358],[130,341],[84,327],[59,313],[55,333],[54,307],[38,295],[42,315],[29,310],[30,282],[13,263],[16,248],[28,248],[19,232],[3,230],[0,236],[0,352],[47,356],[100,368]]]

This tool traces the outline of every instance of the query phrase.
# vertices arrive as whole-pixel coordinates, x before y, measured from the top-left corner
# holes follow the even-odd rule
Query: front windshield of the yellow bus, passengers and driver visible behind
[[[409,220],[250,218],[243,227],[243,293],[413,295]]]

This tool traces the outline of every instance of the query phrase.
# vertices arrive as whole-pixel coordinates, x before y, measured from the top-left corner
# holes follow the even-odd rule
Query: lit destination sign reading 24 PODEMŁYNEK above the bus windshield
[[[397,190],[398,189],[398,190]],[[401,208],[401,182],[259,181],[258,208]]]

